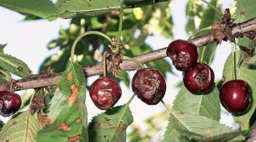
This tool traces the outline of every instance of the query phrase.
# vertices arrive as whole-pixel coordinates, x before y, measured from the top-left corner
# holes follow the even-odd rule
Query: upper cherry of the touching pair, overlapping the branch
[[[173,60],[173,66],[179,71],[188,71],[195,66],[198,59],[195,44],[182,39],[177,39],[170,43],[166,54]]]

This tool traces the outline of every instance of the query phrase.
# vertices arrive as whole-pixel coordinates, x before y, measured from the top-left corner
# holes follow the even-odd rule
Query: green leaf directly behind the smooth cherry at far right
[[[236,52],[236,59],[239,59],[239,52]],[[233,62],[232,62],[232,54],[228,56],[225,66],[224,66],[224,71],[223,71],[223,77],[225,79],[225,82],[232,80],[232,68],[233,68]],[[256,98],[256,70],[255,68],[250,68],[249,66],[245,66],[242,64],[241,66],[236,67],[237,70],[237,79],[244,80],[248,82],[249,86],[251,87],[252,90],[252,96],[253,98]],[[224,83],[225,83],[224,82]],[[240,125],[241,129],[247,129],[248,128],[248,123],[249,119],[251,118],[253,111],[256,108],[256,99],[252,100],[251,108],[248,110],[247,113],[243,114],[242,116],[233,116],[235,118],[235,121],[237,124]]]

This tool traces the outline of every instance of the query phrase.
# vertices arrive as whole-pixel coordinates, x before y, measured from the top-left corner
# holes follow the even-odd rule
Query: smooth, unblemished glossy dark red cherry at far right
[[[226,82],[220,91],[220,100],[224,108],[233,115],[245,113],[251,103],[251,89],[248,82],[232,80]]]

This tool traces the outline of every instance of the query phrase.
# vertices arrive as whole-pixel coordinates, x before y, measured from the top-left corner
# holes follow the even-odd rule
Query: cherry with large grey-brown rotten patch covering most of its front
[[[162,74],[156,69],[143,68],[136,71],[132,78],[131,88],[142,102],[155,105],[163,99],[166,83]]]

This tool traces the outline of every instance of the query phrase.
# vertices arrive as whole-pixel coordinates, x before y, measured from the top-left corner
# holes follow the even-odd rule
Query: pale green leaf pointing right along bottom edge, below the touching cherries
[[[183,129],[184,131],[200,134],[205,137],[215,137],[220,134],[236,132],[232,128],[219,124],[218,121],[211,118],[171,110],[168,126],[164,134],[164,142],[174,142],[173,139],[180,137],[179,133],[171,133],[173,129]],[[179,140],[176,141],[179,142]]]

